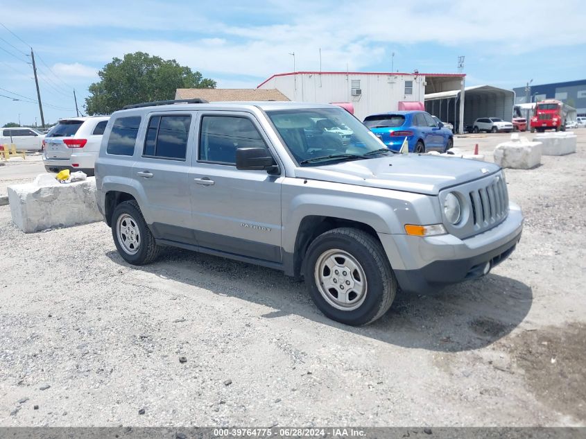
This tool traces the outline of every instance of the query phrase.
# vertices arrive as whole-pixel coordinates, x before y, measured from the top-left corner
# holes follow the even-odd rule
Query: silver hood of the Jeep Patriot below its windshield
[[[499,169],[493,163],[456,157],[395,154],[376,159],[300,167],[295,169],[295,176],[308,180],[438,195],[446,187],[483,178]]]

